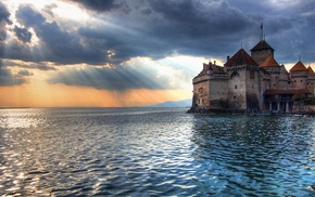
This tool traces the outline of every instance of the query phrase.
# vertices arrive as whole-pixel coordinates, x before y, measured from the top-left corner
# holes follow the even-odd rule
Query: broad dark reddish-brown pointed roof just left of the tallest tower
[[[257,65],[257,63],[245,52],[245,50],[240,49],[225,63],[225,66],[227,67],[239,65]]]

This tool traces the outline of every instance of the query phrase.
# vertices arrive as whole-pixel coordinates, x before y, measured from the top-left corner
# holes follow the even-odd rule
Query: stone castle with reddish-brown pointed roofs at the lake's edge
[[[240,49],[224,66],[210,62],[192,79],[191,110],[291,113],[293,96],[314,97],[315,74],[299,61],[289,71],[274,57],[275,50],[260,39],[251,55]]]

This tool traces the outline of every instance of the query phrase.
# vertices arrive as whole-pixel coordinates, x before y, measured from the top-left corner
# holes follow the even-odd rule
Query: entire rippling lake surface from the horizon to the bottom
[[[314,118],[0,109],[0,196],[315,196]]]

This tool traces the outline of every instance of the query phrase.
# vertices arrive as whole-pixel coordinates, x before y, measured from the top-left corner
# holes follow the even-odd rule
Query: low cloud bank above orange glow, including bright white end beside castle
[[[193,73],[181,67],[172,67],[165,62],[134,58],[116,67],[71,67],[55,73],[48,82],[66,86],[90,87],[103,90],[126,91],[129,89],[185,89]]]

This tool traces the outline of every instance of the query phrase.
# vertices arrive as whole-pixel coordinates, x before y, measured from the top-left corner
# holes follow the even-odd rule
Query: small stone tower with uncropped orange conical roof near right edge
[[[306,89],[308,70],[304,64],[299,61],[291,69],[291,80],[293,82],[292,88],[294,89]]]

